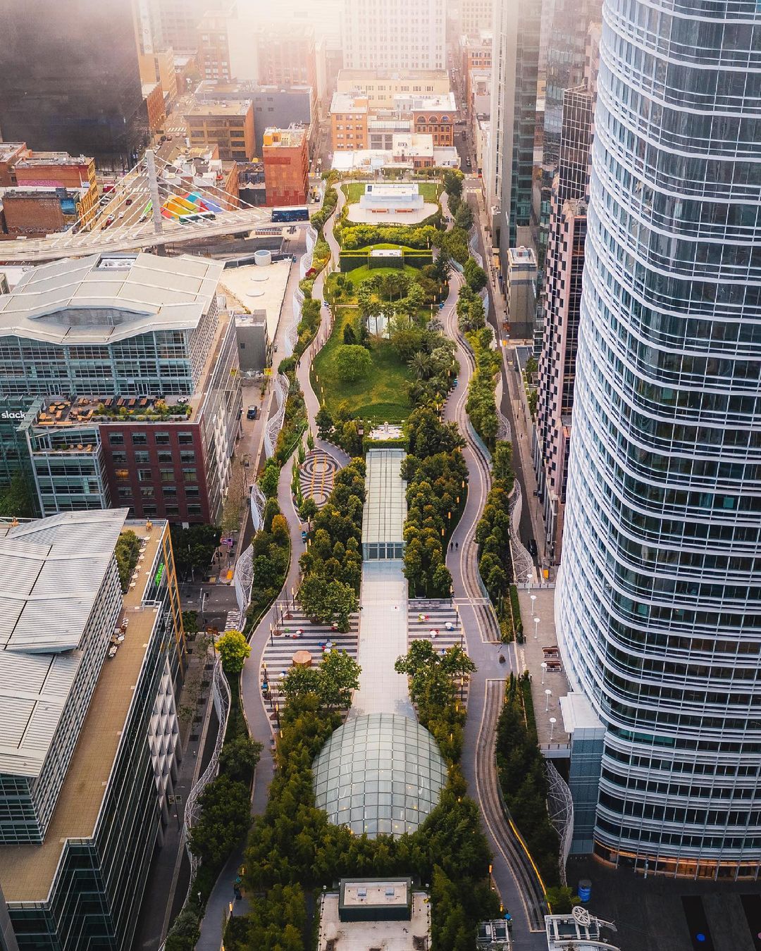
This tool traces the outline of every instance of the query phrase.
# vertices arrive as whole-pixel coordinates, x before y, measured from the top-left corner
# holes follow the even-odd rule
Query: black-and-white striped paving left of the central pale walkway
[[[343,634],[333,631],[329,624],[312,624],[298,604],[294,607],[289,602],[280,608],[276,615],[282,617],[282,622],[273,627],[263,650],[260,677],[264,707],[273,722],[277,720],[276,703],[283,707],[280,685],[293,667],[294,654],[307,651],[312,667],[320,663],[326,647],[345,650],[356,660],[359,633],[359,614],[352,615],[350,630]],[[306,660],[305,655],[300,659]]]

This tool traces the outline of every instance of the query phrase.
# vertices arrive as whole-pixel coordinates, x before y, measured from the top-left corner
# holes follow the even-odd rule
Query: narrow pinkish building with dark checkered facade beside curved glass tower
[[[576,89],[567,89],[563,100],[550,237],[544,264],[537,427],[533,445],[534,469],[547,530],[547,550],[543,555],[550,562],[559,561],[562,546],[595,94],[589,83],[585,83]]]

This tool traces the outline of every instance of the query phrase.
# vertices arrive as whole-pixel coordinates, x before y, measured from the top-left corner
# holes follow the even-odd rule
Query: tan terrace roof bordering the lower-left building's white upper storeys
[[[124,520],[125,513],[87,514],[120,515]],[[0,846],[0,886],[7,902],[47,899],[64,842],[91,838],[95,831],[122,728],[156,623],[158,611],[144,608],[143,597],[161,545],[163,525],[154,523],[151,532],[146,531],[145,523],[125,526],[145,542],[141,564],[147,566],[140,569],[140,582],[124,596],[122,618],[128,620],[126,637],[116,656],[104,661],[45,842]]]

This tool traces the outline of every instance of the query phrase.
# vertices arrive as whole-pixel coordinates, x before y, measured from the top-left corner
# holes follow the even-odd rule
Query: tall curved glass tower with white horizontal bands
[[[595,852],[761,864],[761,6],[606,0],[557,625]]]

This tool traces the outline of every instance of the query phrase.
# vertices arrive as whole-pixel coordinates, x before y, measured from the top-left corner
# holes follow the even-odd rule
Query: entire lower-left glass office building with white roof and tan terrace
[[[125,515],[0,530],[0,884],[22,951],[127,951],[169,819],[180,599],[166,522]]]

